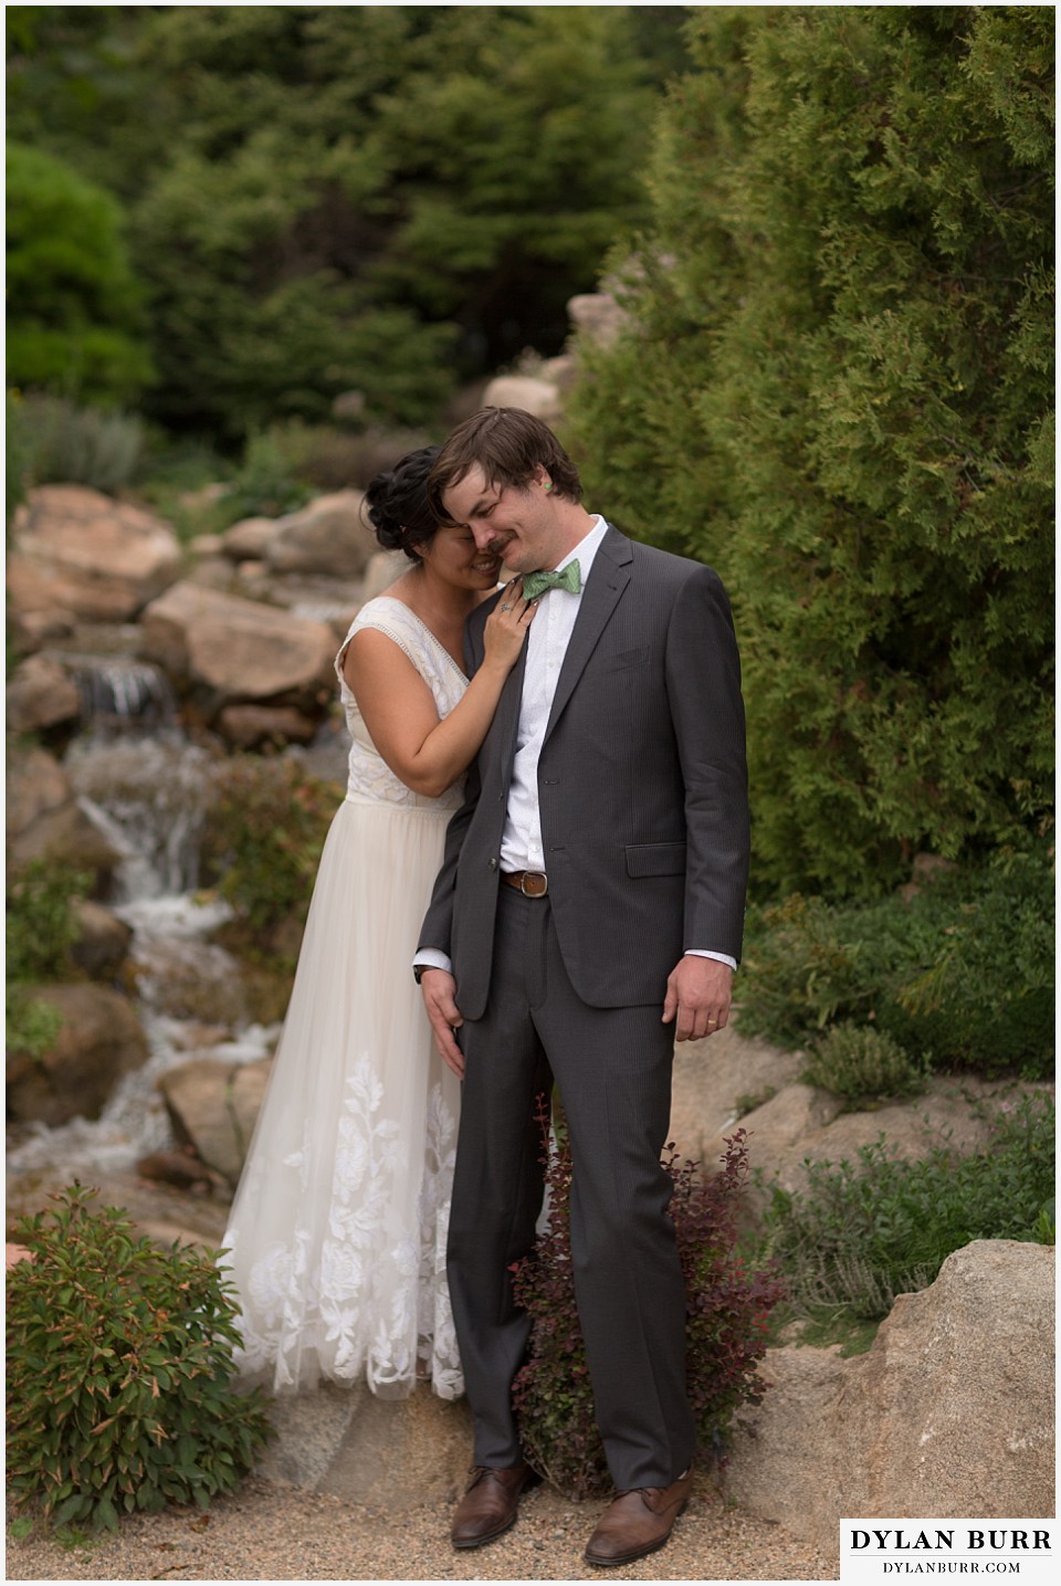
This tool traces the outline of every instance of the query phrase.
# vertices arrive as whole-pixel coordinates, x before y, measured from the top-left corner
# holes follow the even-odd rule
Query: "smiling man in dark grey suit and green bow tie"
[[[530,574],[539,601],[416,955],[438,1045],[463,1077],[449,1285],[476,1469],[452,1540],[500,1535],[533,1480],[511,1405],[530,1324],[509,1269],[534,1243],[534,1098],[555,1078],[579,1316],[619,1489],[585,1556],[626,1564],[663,1546],[691,1484],[685,1293],[660,1153],[674,1039],[726,1023],[741,953],[737,647],[717,574],[590,515],[574,465],[530,414],[485,408],[460,425],[428,492],[481,550]],[[469,672],[490,604],[466,628]]]

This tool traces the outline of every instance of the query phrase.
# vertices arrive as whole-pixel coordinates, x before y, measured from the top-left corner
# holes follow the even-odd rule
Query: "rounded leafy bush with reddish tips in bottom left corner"
[[[165,1504],[208,1508],[271,1429],[228,1386],[238,1343],[211,1251],[157,1250],[75,1185],[24,1218],[8,1274],[8,1483],[57,1524],[116,1529]]]

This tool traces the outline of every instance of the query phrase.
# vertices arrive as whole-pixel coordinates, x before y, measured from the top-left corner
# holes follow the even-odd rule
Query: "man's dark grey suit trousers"
[[[466,1059],[449,1224],[449,1288],[477,1465],[522,1458],[511,1383],[530,1323],[509,1267],[534,1243],[555,1078],[574,1158],[571,1247],[596,1423],[622,1489],[669,1486],[690,1464],[685,1288],[671,1180],[660,1166],[674,1026],[661,1006],[596,1009],[574,993],[549,898],[500,888],[490,996],[458,1032]]]

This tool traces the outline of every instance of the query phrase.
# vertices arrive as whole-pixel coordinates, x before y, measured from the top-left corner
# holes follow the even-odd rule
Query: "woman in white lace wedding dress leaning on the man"
[[[273,1074],[222,1262],[243,1375],[273,1391],[320,1378],[400,1397],[463,1391],[446,1285],[460,1086],[438,1056],[412,955],[446,825],[534,607],[487,620],[463,672],[463,623],[500,560],[427,503],[438,447],[366,492],[412,566],[368,601],[336,657],[349,782],[328,831]]]

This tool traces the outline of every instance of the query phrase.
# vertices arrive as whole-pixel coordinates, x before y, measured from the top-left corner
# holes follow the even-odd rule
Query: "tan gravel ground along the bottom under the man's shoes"
[[[604,1504],[573,1504],[538,1488],[515,1527],[474,1553],[449,1545],[452,1507],[387,1516],[262,1478],[200,1515],[171,1510],[132,1516],[117,1535],[63,1546],[41,1526],[8,1538],[6,1578],[227,1581],[227,1580],[836,1580],[825,1557],[764,1521],[728,1508],[699,1475],[668,1546],[636,1564],[595,1570],[582,1559]]]

